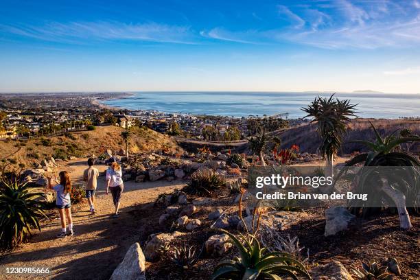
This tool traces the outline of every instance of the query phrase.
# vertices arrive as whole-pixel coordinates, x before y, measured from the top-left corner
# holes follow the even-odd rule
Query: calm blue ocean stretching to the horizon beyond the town
[[[196,115],[288,114],[288,118],[304,117],[301,110],[316,95],[330,93],[266,93],[266,92],[136,92],[129,97],[102,100],[102,104],[131,110],[159,110],[165,113]],[[420,116],[420,94],[338,93],[339,99],[358,104],[359,117],[389,118]]]

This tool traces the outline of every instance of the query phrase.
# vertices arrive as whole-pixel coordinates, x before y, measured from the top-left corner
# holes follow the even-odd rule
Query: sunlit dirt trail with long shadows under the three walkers
[[[105,165],[97,165],[102,173]],[[69,163],[63,170],[71,172],[75,181],[80,181],[86,159]],[[104,176],[98,179],[95,201],[97,213],[91,215],[89,205],[73,207],[75,235],[57,239],[60,220],[52,218],[43,224],[30,243],[23,244],[12,253],[1,256],[0,279],[108,279],[128,247],[152,233],[148,220],[154,220],[150,202],[172,189],[183,187],[182,182],[156,181],[147,183],[124,183],[121,198],[121,215],[112,218],[112,199],[105,194]],[[48,275],[7,275],[6,268],[49,268]]]

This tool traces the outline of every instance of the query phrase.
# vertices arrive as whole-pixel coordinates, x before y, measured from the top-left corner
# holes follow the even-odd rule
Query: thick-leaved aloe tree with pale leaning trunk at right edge
[[[401,152],[398,150],[399,146],[403,143],[414,143],[420,141],[420,137],[417,135],[408,135],[404,130],[400,133],[399,137],[395,137],[395,132],[382,138],[380,133],[376,130],[375,126],[371,123],[373,132],[375,132],[375,141],[364,141],[355,140],[350,141],[352,143],[361,143],[368,147],[371,151],[358,154],[346,163],[346,167],[340,171],[337,179],[346,174],[350,166],[358,163],[364,163],[364,167],[354,180],[355,191],[360,194],[368,194],[371,197],[377,197],[378,195],[384,194],[388,196],[397,207],[399,214],[399,223],[401,229],[410,229],[412,224],[410,222],[410,216],[406,208],[407,201],[410,205],[414,206],[416,210],[417,196],[420,189],[420,161],[414,156],[408,154],[408,152]],[[408,137],[404,137],[408,136]],[[393,172],[380,172],[375,168],[377,166],[392,166]],[[404,176],[401,176],[404,174]],[[373,182],[373,180],[375,180]],[[382,188],[380,191],[373,189],[372,186],[380,184]],[[382,197],[379,198],[380,201]],[[373,211],[369,205],[358,203],[357,205],[351,205],[351,211],[354,214],[358,214],[362,211],[362,215],[370,215]]]

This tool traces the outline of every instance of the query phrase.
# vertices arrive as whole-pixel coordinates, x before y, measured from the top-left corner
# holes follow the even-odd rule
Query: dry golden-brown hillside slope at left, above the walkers
[[[70,156],[98,156],[106,149],[116,152],[125,147],[122,131],[124,129],[117,126],[99,126],[93,131],[69,132],[57,137],[1,141],[1,159],[14,165],[32,167],[51,156],[65,160]],[[130,152],[182,151],[168,135],[137,127],[130,128],[130,132]]]

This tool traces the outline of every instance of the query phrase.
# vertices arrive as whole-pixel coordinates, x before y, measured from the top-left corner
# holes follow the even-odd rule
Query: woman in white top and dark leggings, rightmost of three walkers
[[[114,158],[110,158],[108,161],[110,167],[106,170],[106,194],[111,192],[113,195],[113,202],[115,206],[114,218],[117,218],[119,215],[119,205],[121,200],[121,194],[124,189],[124,184],[122,180],[122,171],[121,166],[117,163]]]

